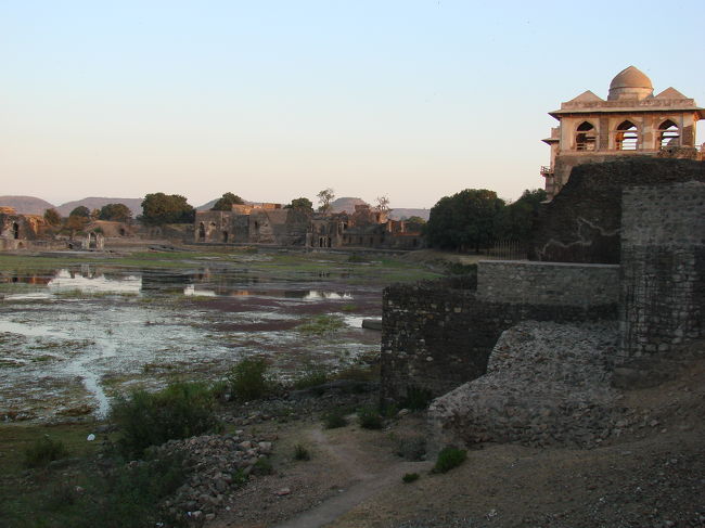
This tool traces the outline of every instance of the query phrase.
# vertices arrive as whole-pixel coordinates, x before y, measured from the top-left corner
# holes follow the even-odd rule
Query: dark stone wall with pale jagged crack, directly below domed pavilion
[[[705,181],[704,163],[633,156],[579,165],[541,210],[529,258],[618,263],[621,190],[689,180]]]

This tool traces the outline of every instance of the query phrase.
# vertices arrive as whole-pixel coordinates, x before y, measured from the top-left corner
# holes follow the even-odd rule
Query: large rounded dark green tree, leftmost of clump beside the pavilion
[[[486,189],[465,189],[444,196],[431,209],[428,243],[459,250],[489,247],[498,237],[504,201]]]

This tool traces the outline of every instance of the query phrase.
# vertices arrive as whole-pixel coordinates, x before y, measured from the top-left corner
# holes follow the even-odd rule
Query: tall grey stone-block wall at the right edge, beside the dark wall
[[[705,337],[705,183],[626,189],[623,210],[625,359]]]

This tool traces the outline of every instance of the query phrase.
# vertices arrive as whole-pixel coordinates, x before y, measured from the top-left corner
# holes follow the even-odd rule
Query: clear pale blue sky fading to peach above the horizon
[[[515,198],[542,186],[547,112],[631,64],[705,105],[704,20],[702,1],[0,0],[0,194]]]

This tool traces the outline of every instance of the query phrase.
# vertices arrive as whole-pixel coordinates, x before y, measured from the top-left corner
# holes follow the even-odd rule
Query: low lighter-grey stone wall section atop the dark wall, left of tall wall
[[[594,306],[619,300],[619,267],[484,260],[477,297],[495,302]]]

